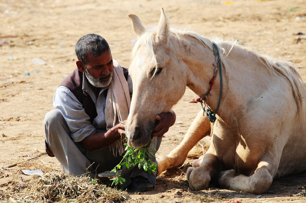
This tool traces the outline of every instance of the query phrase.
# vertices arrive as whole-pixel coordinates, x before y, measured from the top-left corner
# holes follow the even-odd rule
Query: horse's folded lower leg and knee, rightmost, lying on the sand
[[[262,194],[268,190],[272,183],[274,166],[274,157],[266,155],[259,160],[253,175],[238,175],[232,169],[221,172],[218,182],[221,187],[230,190]]]

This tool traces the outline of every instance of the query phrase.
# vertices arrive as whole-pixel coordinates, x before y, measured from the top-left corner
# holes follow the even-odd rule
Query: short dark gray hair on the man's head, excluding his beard
[[[97,34],[84,35],[76,42],[76,46],[74,47],[77,58],[84,64],[88,62],[88,54],[97,57],[109,49],[110,47],[106,40]]]

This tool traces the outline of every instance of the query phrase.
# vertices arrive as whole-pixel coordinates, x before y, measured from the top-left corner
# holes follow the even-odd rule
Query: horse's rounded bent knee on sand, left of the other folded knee
[[[204,190],[211,181],[210,174],[203,168],[189,167],[186,173],[189,186],[192,190]]]

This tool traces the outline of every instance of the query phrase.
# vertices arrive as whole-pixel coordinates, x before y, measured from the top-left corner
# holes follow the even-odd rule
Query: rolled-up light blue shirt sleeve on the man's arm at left
[[[73,142],[80,142],[88,135],[96,133],[83,105],[67,87],[57,88],[53,98],[53,106],[62,113]]]

